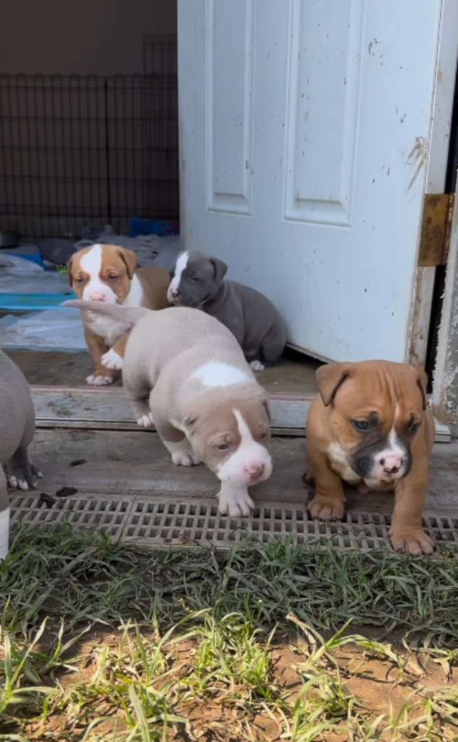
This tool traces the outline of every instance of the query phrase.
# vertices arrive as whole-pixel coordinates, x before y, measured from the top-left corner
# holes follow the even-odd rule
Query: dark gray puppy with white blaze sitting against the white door
[[[197,250],[181,252],[170,271],[170,304],[203,309],[224,324],[242,347],[253,371],[275,363],[285,349],[285,322],[273,303],[242,283],[225,280],[226,263]]]

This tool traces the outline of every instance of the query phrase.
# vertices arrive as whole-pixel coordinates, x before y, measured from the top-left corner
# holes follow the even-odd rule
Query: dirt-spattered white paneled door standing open
[[[318,358],[406,358],[441,19],[441,0],[178,0],[185,248]]]

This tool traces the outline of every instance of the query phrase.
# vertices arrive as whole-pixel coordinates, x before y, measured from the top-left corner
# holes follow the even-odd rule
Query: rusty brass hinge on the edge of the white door
[[[428,193],[423,206],[419,266],[445,266],[450,248],[453,193]]]

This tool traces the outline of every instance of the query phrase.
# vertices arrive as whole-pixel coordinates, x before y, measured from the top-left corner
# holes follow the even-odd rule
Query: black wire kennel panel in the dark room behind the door
[[[0,75],[0,229],[179,218],[176,75]]]

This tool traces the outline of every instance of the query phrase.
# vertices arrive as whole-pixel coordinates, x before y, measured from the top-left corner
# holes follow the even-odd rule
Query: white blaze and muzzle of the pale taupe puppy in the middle
[[[239,410],[232,411],[239,428],[240,444],[237,450],[219,465],[216,476],[228,485],[248,487],[271,476],[271,455],[265,446],[253,439],[250,428]]]

